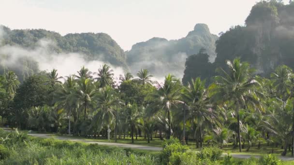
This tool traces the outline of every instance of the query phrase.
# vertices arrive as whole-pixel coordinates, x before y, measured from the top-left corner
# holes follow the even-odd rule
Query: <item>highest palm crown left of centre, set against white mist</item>
[[[107,64],[103,64],[101,69],[98,69],[98,73],[95,73],[98,75],[97,81],[100,83],[101,88],[105,86],[111,86],[113,85],[113,69],[110,69],[110,66]]]

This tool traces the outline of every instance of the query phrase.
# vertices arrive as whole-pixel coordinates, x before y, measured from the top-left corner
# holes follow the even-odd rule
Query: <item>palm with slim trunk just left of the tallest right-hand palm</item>
[[[201,81],[199,77],[191,80],[188,87],[183,88],[183,100],[190,107],[189,117],[192,123],[198,125],[200,136],[200,148],[202,148],[202,125],[206,123],[216,123],[219,120],[218,114],[212,109],[209,102],[208,92],[205,88],[205,81]]]

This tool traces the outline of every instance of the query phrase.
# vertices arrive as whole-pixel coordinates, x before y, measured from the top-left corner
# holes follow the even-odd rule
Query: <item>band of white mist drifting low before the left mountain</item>
[[[3,36],[3,30],[0,30],[0,37]],[[0,64],[8,68],[22,69],[19,62],[21,58],[29,58],[38,63],[41,71],[49,72],[52,69],[57,69],[59,76],[68,76],[75,74],[83,66],[92,72],[97,72],[105,62],[102,60],[85,60],[85,55],[79,53],[57,53],[52,50],[55,42],[48,39],[42,39],[37,42],[34,49],[23,48],[20,46],[4,45],[0,47],[0,55],[7,55],[7,58],[1,59]],[[103,55],[101,55],[103,56]],[[114,70],[115,79],[124,73],[121,67],[114,67],[106,63]]]

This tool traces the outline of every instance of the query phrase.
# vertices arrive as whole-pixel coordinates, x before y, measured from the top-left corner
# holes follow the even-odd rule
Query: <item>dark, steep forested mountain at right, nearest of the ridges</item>
[[[226,60],[235,57],[249,62],[257,74],[267,77],[279,65],[293,69],[294,3],[284,5],[276,0],[258,2],[252,7],[245,26],[235,26],[221,34],[216,42],[216,53],[214,63],[197,55],[188,58],[183,83],[196,77],[209,80],[217,68],[225,68]]]

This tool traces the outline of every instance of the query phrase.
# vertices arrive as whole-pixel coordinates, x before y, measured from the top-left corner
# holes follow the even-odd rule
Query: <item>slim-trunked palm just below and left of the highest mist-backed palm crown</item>
[[[76,102],[84,106],[84,121],[86,121],[87,108],[95,102],[96,90],[91,79],[80,79],[77,81],[77,90],[73,94]]]

